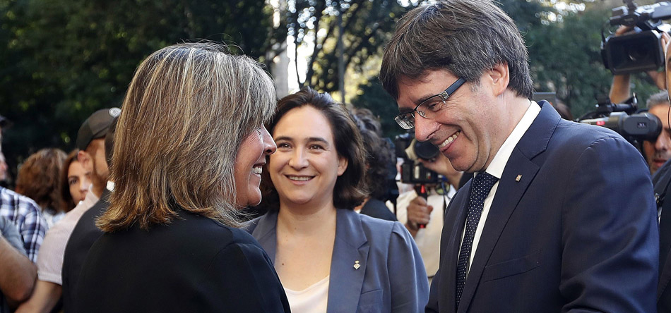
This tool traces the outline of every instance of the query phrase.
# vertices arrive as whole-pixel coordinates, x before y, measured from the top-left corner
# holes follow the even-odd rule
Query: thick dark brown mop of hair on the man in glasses
[[[400,80],[422,80],[429,70],[449,70],[477,86],[485,70],[506,63],[509,89],[531,99],[528,59],[515,23],[492,1],[442,0],[400,19],[384,49],[379,78],[398,99]]]

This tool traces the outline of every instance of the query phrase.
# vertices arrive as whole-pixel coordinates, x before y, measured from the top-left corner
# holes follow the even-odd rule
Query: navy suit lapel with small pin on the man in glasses
[[[494,251],[499,236],[522,199],[524,192],[538,173],[540,166],[531,160],[545,151],[547,143],[550,141],[557,123],[559,123],[557,111],[554,111],[547,102],[541,102],[540,104],[542,106],[540,113],[513,149],[499,179],[499,187],[496,195],[494,195],[492,207],[489,208],[485,226],[482,228],[482,235],[477,243],[477,250],[468,272],[468,278],[466,278],[461,295],[461,305],[457,312],[466,312],[470,306],[470,301],[473,300],[477,285],[480,283],[482,271],[484,271],[485,265],[489,261],[492,251]],[[521,176],[521,179],[518,181],[519,176]],[[458,252],[456,253],[455,255],[458,255]]]

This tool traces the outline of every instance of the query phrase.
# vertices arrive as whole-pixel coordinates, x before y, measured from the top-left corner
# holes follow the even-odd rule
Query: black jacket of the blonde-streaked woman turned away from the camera
[[[81,269],[77,312],[289,312],[249,233],[177,210],[167,226],[105,233]]]

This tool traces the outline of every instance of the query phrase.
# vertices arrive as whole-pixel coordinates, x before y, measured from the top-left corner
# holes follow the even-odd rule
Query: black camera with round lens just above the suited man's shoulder
[[[595,111],[578,121],[614,130],[639,149],[642,140],[656,140],[662,131],[662,121],[657,116],[648,112],[636,113],[636,94],[622,104],[613,104],[608,97],[602,97],[598,102]]]

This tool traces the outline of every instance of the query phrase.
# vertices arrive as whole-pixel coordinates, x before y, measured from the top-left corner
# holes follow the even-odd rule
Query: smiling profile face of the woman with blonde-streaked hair
[[[261,202],[261,168],[266,164],[266,155],[273,154],[277,147],[268,130],[261,125],[247,135],[235,157],[235,203],[247,207]]]

